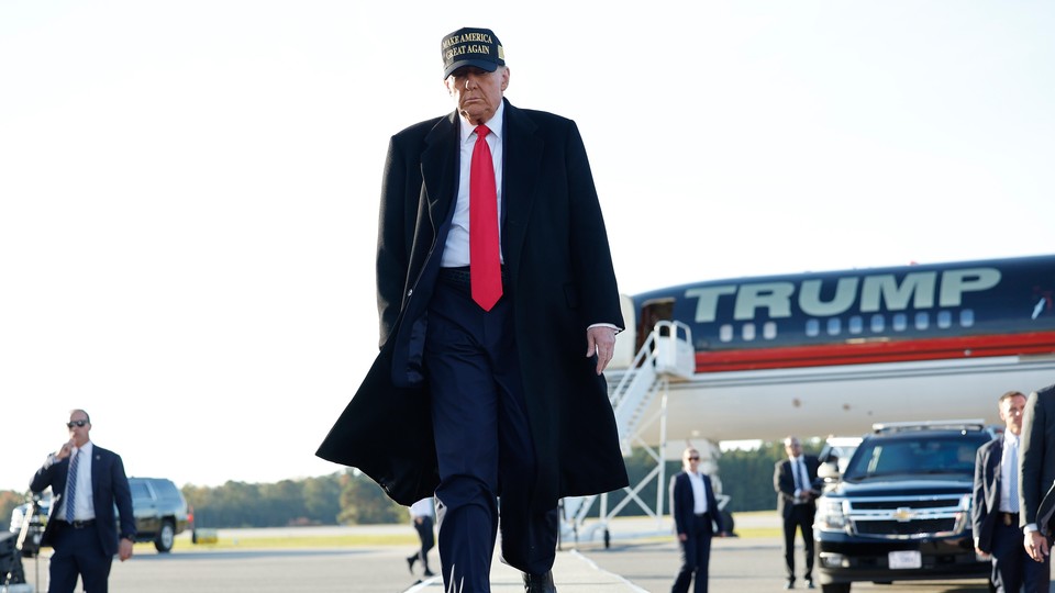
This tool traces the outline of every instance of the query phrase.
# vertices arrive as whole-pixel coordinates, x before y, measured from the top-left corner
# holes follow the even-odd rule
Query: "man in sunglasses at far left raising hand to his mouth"
[[[88,413],[71,411],[66,426],[69,441],[47,457],[30,482],[31,491],[40,493],[51,486],[54,496],[41,538],[42,546],[55,550],[47,590],[70,593],[80,575],[86,592],[106,593],[113,555],[122,562],[132,558],[132,492],[121,457],[89,440]],[[114,506],[121,519],[120,542]]]

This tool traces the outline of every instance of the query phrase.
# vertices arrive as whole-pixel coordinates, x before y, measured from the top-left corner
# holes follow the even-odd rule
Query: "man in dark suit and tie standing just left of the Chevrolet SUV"
[[[821,492],[813,488],[820,461],[812,455],[802,455],[798,437],[784,439],[788,458],[778,461],[773,472],[773,488],[777,491],[777,513],[784,519],[784,561],[787,567],[785,589],[795,588],[795,532],[802,532],[806,548],[806,572],[802,578],[807,589],[813,589],[813,516],[817,514],[817,497]]]

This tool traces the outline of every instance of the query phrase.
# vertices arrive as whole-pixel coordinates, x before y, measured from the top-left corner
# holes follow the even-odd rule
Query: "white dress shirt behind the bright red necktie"
[[[502,244],[502,114],[506,112],[506,102],[502,101],[495,111],[495,115],[484,125],[491,132],[487,135],[487,145],[491,149],[491,161],[495,165],[495,188],[498,193],[498,244],[499,258]],[[454,204],[454,219],[451,221],[451,231],[443,247],[440,266],[444,268],[459,268],[469,265],[469,170],[473,167],[473,147],[476,145],[476,126],[464,116],[458,115],[462,125],[458,128],[462,138],[462,157],[459,158],[458,198]]]

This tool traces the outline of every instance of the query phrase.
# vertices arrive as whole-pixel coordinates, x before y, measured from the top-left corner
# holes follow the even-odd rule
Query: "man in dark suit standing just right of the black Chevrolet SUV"
[[[1019,524],[1019,435],[1025,395],[1009,391],[997,403],[1006,429],[1002,438],[978,448],[975,459],[971,530],[975,550],[990,556],[996,591],[1047,593],[1051,583],[1048,562],[1034,562],[1022,548]]]

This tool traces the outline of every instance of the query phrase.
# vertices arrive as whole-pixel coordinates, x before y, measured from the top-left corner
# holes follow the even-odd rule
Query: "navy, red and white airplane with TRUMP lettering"
[[[1000,394],[1055,382],[1053,296],[1055,255],[670,287],[624,295],[626,331],[606,374],[618,384],[669,322],[685,331],[691,369],[642,411],[655,416],[665,401],[667,441],[996,422]],[[660,440],[660,423],[641,424],[643,443]]]

